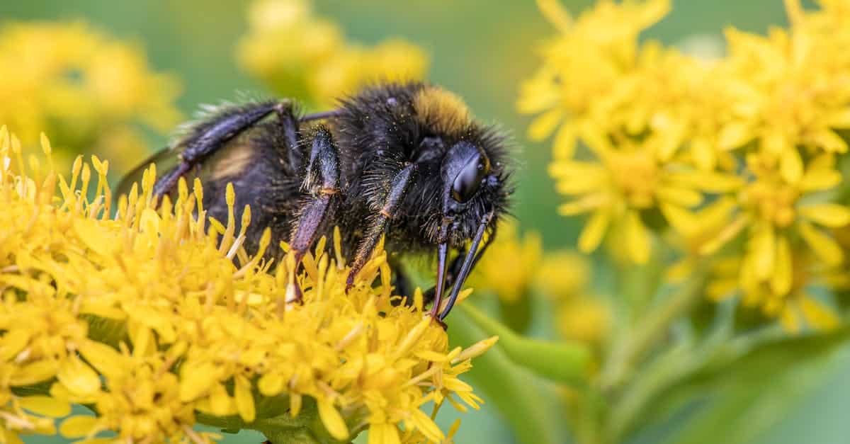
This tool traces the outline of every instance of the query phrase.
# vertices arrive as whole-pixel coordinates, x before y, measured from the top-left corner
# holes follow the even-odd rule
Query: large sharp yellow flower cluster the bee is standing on
[[[0,442],[55,433],[70,403],[95,415],[59,433],[109,442],[216,439],[195,423],[439,442],[424,403],[478,407],[459,375],[496,338],[449,349],[421,293],[414,306],[391,302],[382,251],[348,294],[338,231],[336,255],[323,240],[303,272],[292,257],[269,271],[268,231],[257,254],[241,248],[250,208],[235,231],[232,187],[229,220],[207,225],[198,182],[155,209],[150,168],[113,212],[108,162],[77,157],[65,179],[44,136],[42,148],[48,168],[0,130]],[[303,305],[286,302],[294,279]],[[107,430],[116,438],[98,437]]]

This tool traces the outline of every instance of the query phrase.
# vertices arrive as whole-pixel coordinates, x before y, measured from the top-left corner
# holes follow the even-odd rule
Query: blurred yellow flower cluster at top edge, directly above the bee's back
[[[309,0],[258,0],[237,58],[244,70],[287,97],[325,108],[365,83],[419,79],[428,71],[422,49],[399,39],[372,48],[346,43],[343,31],[314,14]]]

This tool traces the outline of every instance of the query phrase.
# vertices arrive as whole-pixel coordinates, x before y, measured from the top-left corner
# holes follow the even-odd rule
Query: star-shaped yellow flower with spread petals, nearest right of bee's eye
[[[737,181],[727,175],[700,173],[681,163],[664,162],[659,145],[624,139],[614,146],[606,139],[591,145],[598,162],[556,160],[549,173],[556,189],[575,196],[562,204],[558,213],[572,216],[590,213],[581,231],[579,249],[590,253],[613,230],[626,259],[643,264],[649,260],[652,236],[643,223],[642,212],[660,208],[678,212],[703,202],[703,190],[725,190]]]

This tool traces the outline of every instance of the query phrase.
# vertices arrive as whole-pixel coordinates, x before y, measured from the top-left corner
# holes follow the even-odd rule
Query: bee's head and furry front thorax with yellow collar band
[[[387,171],[393,174],[393,165],[416,164],[417,178],[404,204],[413,223],[404,228],[416,238],[416,246],[437,249],[438,298],[445,286],[448,251],[468,246],[450,304],[440,314],[445,317],[483,252],[479,245],[484,234],[489,232],[491,240],[496,222],[507,211],[513,190],[508,185],[506,138],[498,128],[476,122],[458,96],[424,83],[378,84],[342,105],[337,134],[348,147],[343,155],[351,156],[344,163],[364,168],[360,174],[373,177],[383,177],[384,165],[390,165]],[[398,158],[388,162],[386,157]]]

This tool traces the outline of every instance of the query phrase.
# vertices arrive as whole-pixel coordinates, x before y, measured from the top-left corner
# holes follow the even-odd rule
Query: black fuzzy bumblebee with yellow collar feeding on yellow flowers
[[[336,109],[308,115],[293,100],[210,108],[121,188],[150,162],[171,162],[154,185],[155,197],[173,193],[180,177],[201,177],[204,208],[219,220],[227,218],[224,187],[233,184],[236,208],[252,210],[244,245],[256,249],[269,227],[266,255],[275,263],[283,256],[280,241],[298,263],[338,226],[343,253],[354,254],[348,287],[382,236],[404,295],[410,288],[400,257],[436,253],[436,283],[427,297],[441,323],[496,237],[513,192],[506,137],[475,122],[455,94],[424,83],[377,84],[339,100]],[[448,302],[438,313],[444,293]]]

